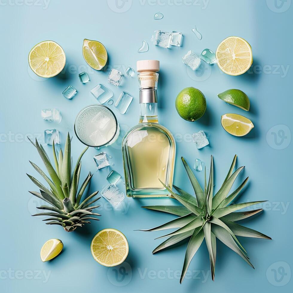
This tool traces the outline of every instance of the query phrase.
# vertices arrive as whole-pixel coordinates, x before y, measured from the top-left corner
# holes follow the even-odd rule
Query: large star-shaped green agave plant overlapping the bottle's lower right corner
[[[231,248],[237,254],[239,254],[249,265],[251,265],[252,268],[254,267],[249,261],[245,249],[236,238],[236,235],[243,237],[271,239],[270,237],[258,231],[246,228],[242,225],[235,223],[236,221],[246,219],[263,210],[257,209],[245,212],[235,212],[236,210],[240,210],[251,205],[256,205],[263,201],[245,202],[240,204],[229,205],[248,181],[247,177],[242,182],[242,184],[240,184],[240,186],[228,196],[228,193],[236,177],[244,168],[240,167],[233,173],[236,163],[236,157],[237,156],[235,155],[228,175],[225,178],[225,181],[221,186],[220,190],[215,194],[215,196],[213,196],[213,157],[211,156],[210,175],[208,184],[206,183],[205,178],[204,190],[202,190],[202,188],[200,187],[198,181],[196,180],[193,172],[191,171],[190,167],[188,166],[184,158],[181,158],[196,197],[190,195],[189,193],[185,192],[184,190],[175,185],[173,185],[173,187],[176,189],[178,193],[174,193],[162,182],[165,188],[167,188],[169,192],[172,194],[172,196],[175,199],[177,199],[183,206],[161,205],[144,207],[146,209],[157,210],[161,212],[171,213],[176,216],[180,216],[179,218],[176,218],[158,227],[147,230],[141,230],[160,231],[171,228],[179,228],[178,230],[172,233],[158,237],[169,238],[165,240],[163,243],[161,243],[157,248],[155,248],[155,250],[152,252],[153,254],[191,236],[187,245],[180,283],[182,283],[187,272],[188,266],[190,264],[190,261],[196,254],[196,251],[199,249],[204,238],[210,255],[212,280],[214,280],[215,277],[216,238],[218,238],[225,245],[227,245],[229,248]]]

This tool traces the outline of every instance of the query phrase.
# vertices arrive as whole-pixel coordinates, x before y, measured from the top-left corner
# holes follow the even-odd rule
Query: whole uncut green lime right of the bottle
[[[205,114],[207,101],[204,94],[197,88],[184,88],[177,96],[176,110],[187,121],[196,121]]]

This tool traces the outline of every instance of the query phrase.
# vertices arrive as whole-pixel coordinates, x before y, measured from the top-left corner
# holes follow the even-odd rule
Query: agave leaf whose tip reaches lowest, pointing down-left
[[[202,228],[200,227],[196,228],[187,245],[185,259],[184,259],[183,268],[182,268],[181,277],[180,277],[180,284],[182,283],[186,275],[187,269],[189,267],[189,264],[192,258],[196,254],[196,251],[199,249],[204,238],[205,238],[205,234]]]

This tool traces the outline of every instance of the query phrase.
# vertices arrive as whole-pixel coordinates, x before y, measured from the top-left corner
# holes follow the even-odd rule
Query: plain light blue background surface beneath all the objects
[[[274,0],[128,0],[124,6],[117,0],[122,8],[116,6],[114,0],[48,1],[1,0],[0,5],[1,292],[291,291],[291,0],[284,2],[281,8],[274,6]],[[188,5],[190,3],[194,5]],[[281,6],[282,2],[277,0],[277,4]],[[164,14],[164,18],[154,20],[153,16],[158,11]],[[194,25],[202,33],[201,41],[191,31]],[[182,32],[183,46],[170,49],[154,46],[150,38],[157,29]],[[215,51],[219,42],[231,35],[243,37],[252,46],[254,63],[248,73],[231,77],[223,74],[217,65],[205,65],[195,74],[181,62],[187,51],[192,50],[197,54],[205,48]],[[105,45],[109,56],[106,71],[94,71],[88,67],[82,56],[84,38],[98,40]],[[36,43],[47,39],[63,47],[66,65],[58,76],[43,80],[30,70],[27,58]],[[138,54],[143,40],[149,43],[149,51]],[[107,75],[111,68],[123,72],[127,66],[135,68],[139,59],[158,59],[161,62],[159,121],[170,129],[177,141],[174,184],[191,192],[181,156],[192,166],[195,158],[201,158],[209,165],[212,154],[215,188],[218,189],[236,153],[237,167],[246,166],[236,183],[240,183],[246,176],[250,178],[239,202],[269,200],[262,205],[265,211],[257,219],[242,222],[273,238],[273,241],[269,241],[240,237],[255,270],[218,242],[216,278],[212,282],[207,248],[203,242],[189,267],[195,279],[186,278],[180,285],[179,277],[187,244],[152,255],[152,250],[161,243],[161,239],[153,239],[164,232],[134,231],[173,219],[172,215],[141,208],[144,205],[176,204],[172,199],[126,198],[118,210],[113,210],[102,198],[99,200],[102,205],[99,211],[102,214],[101,221],[72,233],[66,233],[57,226],[45,225],[41,221],[43,218],[30,216],[37,212],[36,206],[40,203],[27,191],[37,188],[25,173],[39,178],[28,160],[40,167],[43,164],[25,136],[37,136],[39,141],[43,141],[44,129],[56,127],[64,147],[69,131],[73,135],[72,152],[75,161],[84,146],[74,135],[74,119],[80,109],[96,102],[89,94],[90,89],[98,83],[107,85]],[[78,73],[82,71],[88,72],[91,79],[87,84],[79,81]],[[62,91],[69,84],[78,91],[72,100],[62,96]],[[194,123],[181,119],[175,110],[176,96],[187,86],[199,88],[207,99],[204,117]],[[109,88],[114,92],[114,100],[122,90],[134,96],[125,115],[115,111],[114,105],[110,106],[117,115],[121,132],[125,133],[127,126],[132,127],[138,122],[137,79],[125,75],[120,87],[109,85]],[[219,100],[217,94],[229,88],[239,88],[248,94],[251,101],[249,112]],[[41,109],[50,107],[60,109],[63,119],[59,125],[40,117]],[[253,121],[255,128],[249,135],[237,138],[222,129],[221,115],[231,112],[245,115]],[[274,129],[271,129],[273,126]],[[190,136],[201,129],[210,135],[210,145],[198,150]],[[277,143],[283,143],[277,146],[272,132],[278,133],[279,130],[284,131],[286,138],[282,141],[278,137]],[[90,191],[100,190],[106,184],[106,176],[111,169],[123,174],[120,142],[121,138],[113,147],[102,149],[113,156],[111,166],[94,174]],[[51,155],[51,148],[44,147]],[[92,157],[98,152],[92,148],[84,155],[82,177],[89,171],[96,171]],[[197,173],[196,176],[202,183],[204,173]],[[124,188],[123,179],[118,186]],[[116,271],[114,268],[113,271],[96,263],[91,256],[91,239],[103,228],[116,228],[129,241],[129,255],[124,266],[126,275],[123,267],[116,268]],[[52,262],[42,263],[39,251],[50,238],[61,239],[64,251]],[[280,266],[287,275],[282,279],[277,274],[275,279],[271,269],[278,270]],[[15,275],[9,271],[20,272]],[[32,276],[30,271],[33,271]],[[48,280],[45,280],[48,274]]]

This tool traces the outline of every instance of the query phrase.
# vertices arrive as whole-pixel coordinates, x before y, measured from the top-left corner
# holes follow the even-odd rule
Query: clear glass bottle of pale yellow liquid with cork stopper
[[[126,195],[128,197],[170,196],[176,144],[172,133],[158,123],[157,84],[159,61],[137,62],[139,123],[122,141]]]

